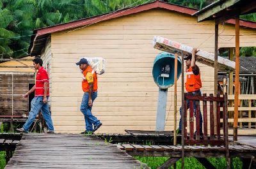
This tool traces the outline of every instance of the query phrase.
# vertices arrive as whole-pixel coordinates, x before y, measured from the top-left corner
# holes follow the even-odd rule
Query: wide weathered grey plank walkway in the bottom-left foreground
[[[9,168],[148,168],[96,136],[24,134]]]

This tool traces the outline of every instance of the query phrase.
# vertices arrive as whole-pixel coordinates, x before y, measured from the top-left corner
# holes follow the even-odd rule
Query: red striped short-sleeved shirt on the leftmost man
[[[47,71],[42,66],[36,74],[35,96],[44,96],[44,82],[48,82],[47,96],[49,96],[49,78],[47,75]]]

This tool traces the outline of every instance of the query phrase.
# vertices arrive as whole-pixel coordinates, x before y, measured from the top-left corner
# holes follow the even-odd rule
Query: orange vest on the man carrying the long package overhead
[[[185,84],[186,91],[195,92],[200,90],[202,87],[200,72],[198,75],[194,75],[192,71],[192,67],[190,67],[187,71],[187,82]]]

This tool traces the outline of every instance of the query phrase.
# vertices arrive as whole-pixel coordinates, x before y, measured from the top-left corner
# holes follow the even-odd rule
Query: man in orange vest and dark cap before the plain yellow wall
[[[100,128],[102,123],[92,114],[93,101],[97,98],[98,79],[96,72],[88,64],[87,59],[76,63],[83,73],[82,89],[84,91],[80,110],[84,114],[86,130],[81,134],[90,134]],[[93,128],[94,126],[94,128]]]

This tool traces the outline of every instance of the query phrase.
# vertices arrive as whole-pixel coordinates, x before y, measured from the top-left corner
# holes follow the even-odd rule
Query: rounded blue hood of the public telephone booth
[[[174,61],[175,56],[168,52],[162,52],[156,56],[154,61],[154,66],[152,70],[153,78],[155,83],[160,89],[168,89],[174,84]],[[161,72],[163,71],[164,66],[170,66],[170,75],[169,77],[161,77]],[[177,79],[179,79],[181,73],[181,60],[178,57],[178,71]]]

